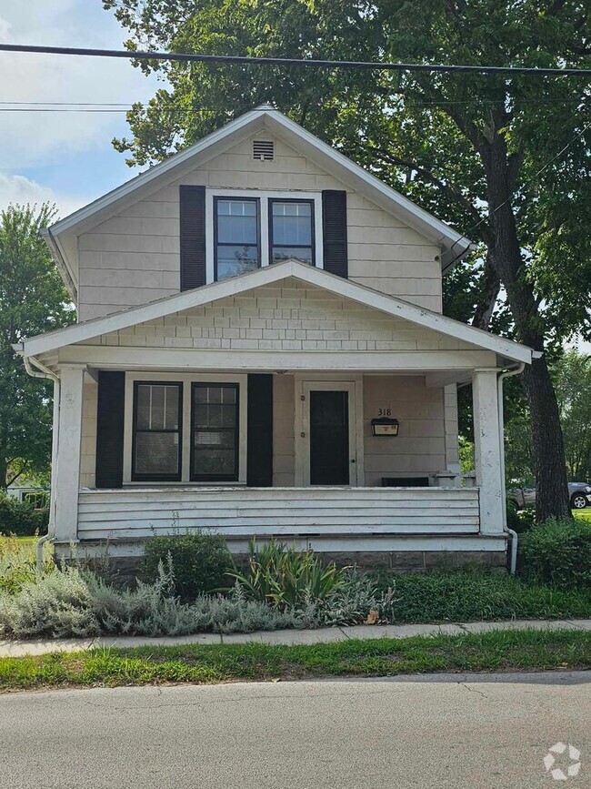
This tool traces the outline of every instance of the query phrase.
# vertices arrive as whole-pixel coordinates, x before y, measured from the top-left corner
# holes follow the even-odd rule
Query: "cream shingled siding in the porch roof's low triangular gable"
[[[288,279],[147,321],[87,344],[261,350],[454,350],[461,340]]]

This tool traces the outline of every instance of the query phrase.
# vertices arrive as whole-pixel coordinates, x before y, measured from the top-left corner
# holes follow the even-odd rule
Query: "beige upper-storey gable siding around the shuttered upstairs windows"
[[[251,137],[80,236],[81,320],[179,292],[179,187],[191,185],[295,190],[295,197],[299,190],[346,189],[279,139],[274,162],[254,162]],[[441,310],[436,245],[351,190],[347,235],[349,279]]]

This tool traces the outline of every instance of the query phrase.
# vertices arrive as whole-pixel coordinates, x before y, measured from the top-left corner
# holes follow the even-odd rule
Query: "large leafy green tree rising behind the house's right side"
[[[588,65],[584,0],[104,0],[127,46],[203,54],[492,66]],[[165,158],[258,103],[320,137],[480,242],[447,286],[447,311],[501,319],[545,351],[591,332],[581,79],[143,62],[169,86],[115,141],[132,164]],[[467,291],[467,292],[466,292]],[[503,308],[495,306],[499,294]],[[452,298],[453,297],[453,298]],[[451,300],[450,300],[451,299]],[[458,314],[459,313],[459,314]],[[507,320],[508,318],[508,320]],[[498,328],[501,328],[498,327]],[[568,512],[566,462],[546,358],[526,368],[537,517]]]

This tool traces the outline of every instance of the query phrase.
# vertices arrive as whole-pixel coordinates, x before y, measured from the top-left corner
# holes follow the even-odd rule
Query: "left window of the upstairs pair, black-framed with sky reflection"
[[[260,265],[259,201],[215,197],[215,278],[225,279]]]

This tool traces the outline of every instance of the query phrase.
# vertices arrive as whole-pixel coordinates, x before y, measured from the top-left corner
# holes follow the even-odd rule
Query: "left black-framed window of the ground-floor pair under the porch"
[[[183,384],[136,381],[132,480],[181,479]]]

